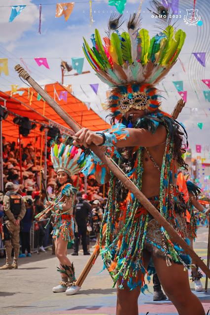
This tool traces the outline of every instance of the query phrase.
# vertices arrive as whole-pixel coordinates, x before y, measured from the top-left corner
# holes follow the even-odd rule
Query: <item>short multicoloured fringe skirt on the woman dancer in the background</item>
[[[55,216],[53,227],[53,239],[62,236],[62,239],[73,244],[74,239],[74,218],[73,214],[62,214]]]

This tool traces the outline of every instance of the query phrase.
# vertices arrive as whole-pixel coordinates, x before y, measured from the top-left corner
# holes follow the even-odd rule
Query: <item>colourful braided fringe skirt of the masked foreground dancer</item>
[[[152,197],[149,201],[154,207],[160,211],[159,196]],[[187,238],[186,221],[183,216],[183,208],[180,208],[180,200],[175,206],[175,218],[168,217],[168,221],[185,239]],[[184,206],[184,205],[183,205]],[[168,209],[168,213],[170,209]],[[129,215],[128,215],[129,214]],[[143,264],[143,249],[164,258],[167,264],[174,261],[188,267],[190,257],[186,255],[177,245],[169,246],[164,240],[161,226],[147,212],[143,206],[139,206],[135,213],[129,212],[129,206],[121,211],[118,223],[108,225],[111,217],[107,217],[106,242],[105,246],[101,246],[101,254],[112,280],[116,281],[120,278],[121,284],[119,288],[123,288],[124,281],[127,281],[128,287],[133,290],[140,287],[143,292],[147,285],[144,282],[144,274],[154,273],[154,270],[145,269]],[[111,232],[111,233],[110,233]],[[101,230],[102,235],[102,230]],[[166,266],[167,266],[166,264]],[[141,279],[138,279],[138,272],[141,271]]]

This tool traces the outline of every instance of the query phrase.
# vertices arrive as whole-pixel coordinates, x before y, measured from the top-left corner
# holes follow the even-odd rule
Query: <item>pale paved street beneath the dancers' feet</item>
[[[206,226],[198,232],[195,250],[204,262],[207,261],[208,231]],[[92,249],[93,250],[93,249]],[[68,249],[70,254],[72,249]],[[79,253],[69,256],[74,262],[76,277],[79,276],[89,256]],[[72,259],[73,258],[73,259]],[[3,265],[4,259],[0,259]],[[0,315],[114,315],[116,306],[116,290],[112,289],[112,281],[108,272],[103,269],[99,257],[89,273],[81,290],[72,296],[65,293],[53,293],[52,287],[60,281],[56,272],[58,260],[51,251],[33,254],[32,257],[19,258],[19,267],[14,270],[0,270]],[[202,278],[205,286],[205,276]],[[171,301],[153,302],[152,281],[148,285],[149,292],[140,294],[139,315],[177,315]],[[191,283],[193,289],[194,284]],[[209,285],[210,288],[210,285]],[[196,293],[193,289],[193,292]],[[210,289],[198,292],[206,313],[210,309]]]

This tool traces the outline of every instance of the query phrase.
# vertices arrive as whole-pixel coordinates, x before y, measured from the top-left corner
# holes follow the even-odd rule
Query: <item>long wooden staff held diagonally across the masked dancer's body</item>
[[[75,125],[65,111],[35,82],[35,80],[24,70],[20,65],[15,67],[19,76],[27,80],[35,91],[57,112],[57,114],[70,126],[70,128],[77,132],[79,127]],[[199,258],[194,250],[187,245],[187,243],[178,235],[171,224],[158,212],[158,210],[149,202],[149,200],[141,193],[141,191],[134,185],[134,183],[127,178],[123,172],[118,169],[112,161],[105,156],[105,154],[94,144],[89,145],[90,149],[100,158],[100,160],[107,166],[108,169],[128,188],[134,196],[140,201],[142,206],[154,217],[158,223],[169,233],[172,241],[181,248],[195,261],[195,263],[203,270],[203,272],[210,278],[210,269],[207,268],[205,263]]]

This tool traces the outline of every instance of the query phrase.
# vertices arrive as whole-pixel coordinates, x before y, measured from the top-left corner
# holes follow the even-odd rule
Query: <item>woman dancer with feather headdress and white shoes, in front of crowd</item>
[[[54,216],[53,239],[55,240],[55,253],[59,259],[61,282],[53,287],[53,292],[66,292],[67,295],[75,294],[72,286],[75,279],[74,266],[67,257],[68,242],[74,239],[73,209],[76,200],[77,189],[72,185],[71,175],[77,174],[84,166],[84,152],[73,145],[61,143],[51,147],[51,160],[57,173],[57,191],[54,202],[46,202],[46,209],[36,217],[39,220],[51,211]],[[69,294],[68,294],[68,291]]]

